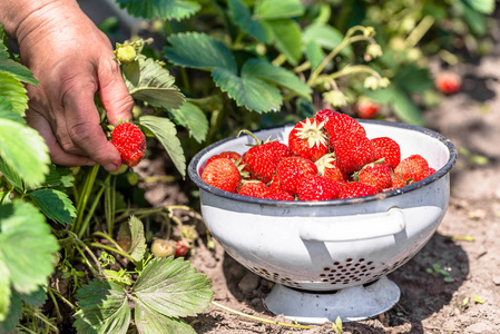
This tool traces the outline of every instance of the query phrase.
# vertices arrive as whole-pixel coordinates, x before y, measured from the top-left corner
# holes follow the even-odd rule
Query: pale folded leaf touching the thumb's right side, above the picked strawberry
[[[122,67],[125,85],[133,98],[154,107],[178,108],[184,96],[174,85],[175,78],[151,58],[139,57]]]

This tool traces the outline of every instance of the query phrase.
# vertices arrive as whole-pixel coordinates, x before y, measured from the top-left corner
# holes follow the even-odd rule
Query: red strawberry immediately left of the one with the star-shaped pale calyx
[[[245,163],[252,175],[268,184],[276,173],[277,164],[292,151],[288,146],[280,141],[269,141],[251,147],[245,155]]]

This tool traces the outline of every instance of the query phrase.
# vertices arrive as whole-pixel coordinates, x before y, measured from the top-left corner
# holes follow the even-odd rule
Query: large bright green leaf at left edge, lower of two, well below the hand
[[[35,206],[20,200],[0,206],[0,263],[19,293],[29,294],[47,284],[59,245]]]

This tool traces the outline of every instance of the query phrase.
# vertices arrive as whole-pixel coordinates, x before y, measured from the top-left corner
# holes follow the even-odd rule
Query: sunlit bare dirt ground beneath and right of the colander
[[[424,248],[389,275],[401,289],[394,307],[367,321],[344,323],[344,333],[500,333],[500,58],[484,57],[453,70],[464,79],[462,91],[425,110],[425,127],[459,149],[448,212]],[[189,259],[212,279],[216,303],[286,322],[264,305],[272,284],[218,244],[209,250],[199,243]],[[435,265],[448,274],[428,273]],[[296,330],[248,316],[212,305],[189,321],[204,334],[335,333],[331,324]]]

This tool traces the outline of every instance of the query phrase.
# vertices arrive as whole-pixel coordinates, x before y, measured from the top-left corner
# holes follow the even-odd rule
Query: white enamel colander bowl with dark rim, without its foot
[[[225,150],[243,154],[248,136],[220,140],[190,161],[202,215],[212,235],[242,265],[275,283],[332,292],[375,282],[412,258],[431,238],[448,207],[454,146],[432,130],[389,121],[360,121],[369,138],[400,144],[402,158],[422,155],[437,171],[404,188],[350,199],[282,202],[223,191],[199,175]],[[255,135],[287,143],[293,125]]]

